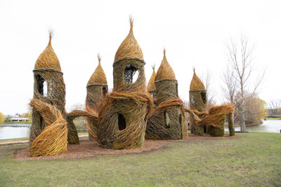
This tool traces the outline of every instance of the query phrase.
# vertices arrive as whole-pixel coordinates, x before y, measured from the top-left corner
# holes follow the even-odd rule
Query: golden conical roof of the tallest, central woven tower
[[[138,45],[138,42],[133,36],[133,18],[130,16],[130,32],[126,39],[121,43],[119,46],[116,54],[115,54],[115,61],[122,57],[136,57],[143,60],[143,51],[141,47]]]

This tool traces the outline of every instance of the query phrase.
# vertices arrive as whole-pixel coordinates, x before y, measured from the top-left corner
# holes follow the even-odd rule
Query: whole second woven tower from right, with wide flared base
[[[157,108],[148,119],[145,139],[183,139],[187,137],[187,123],[183,102],[178,97],[178,81],[174,70],[166,60],[165,50],[162,63],[155,76]]]

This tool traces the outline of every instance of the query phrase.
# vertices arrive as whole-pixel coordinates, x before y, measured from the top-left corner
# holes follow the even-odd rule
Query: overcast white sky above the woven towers
[[[66,85],[67,108],[84,104],[86,83],[98,65],[109,88],[117,48],[129,32],[143,50],[147,82],[162,61],[163,48],[178,80],[178,92],[188,101],[192,67],[206,71],[221,102],[226,69],[224,43],[244,32],[254,42],[256,72],[266,67],[259,97],[281,99],[280,1],[4,1],[0,0],[0,111],[23,113],[33,96],[34,64],[48,44],[60,60]]]

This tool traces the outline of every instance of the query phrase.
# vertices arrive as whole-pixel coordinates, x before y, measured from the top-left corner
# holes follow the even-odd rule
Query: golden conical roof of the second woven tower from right
[[[155,81],[159,81],[166,78],[176,79],[176,76],[174,74],[174,70],[171,68],[169,62],[166,60],[166,50],[164,49],[164,57],[155,76]]]

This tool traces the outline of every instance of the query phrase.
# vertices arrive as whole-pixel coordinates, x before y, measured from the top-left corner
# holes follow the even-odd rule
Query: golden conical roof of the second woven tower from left
[[[100,54],[98,54],[98,67],[96,67],[96,70],[93,72],[87,85],[92,85],[92,84],[107,85],[105,71],[103,71],[103,67],[101,67],[100,60],[101,60],[101,57],[100,57]]]

